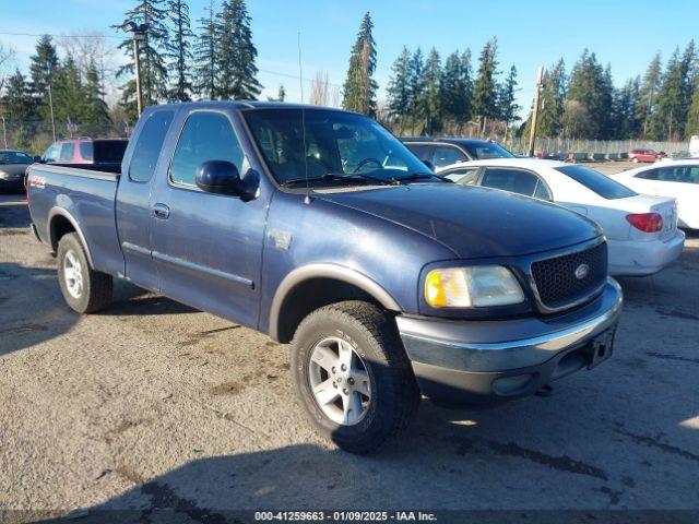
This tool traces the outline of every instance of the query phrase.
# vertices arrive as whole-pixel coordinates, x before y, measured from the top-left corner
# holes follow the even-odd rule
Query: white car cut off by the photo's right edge
[[[635,191],[677,199],[679,227],[699,229],[699,159],[663,162],[612,178]]]

